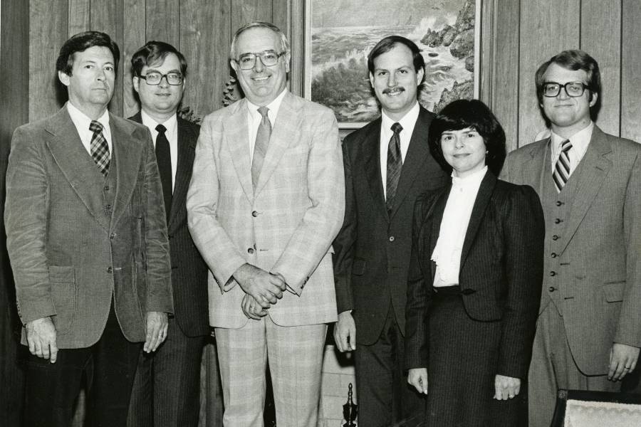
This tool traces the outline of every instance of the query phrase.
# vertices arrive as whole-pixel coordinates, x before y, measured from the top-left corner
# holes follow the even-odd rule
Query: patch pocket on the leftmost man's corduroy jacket
[[[75,317],[77,300],[75,271],[71,266],[49,265],[49,282],[51,283],[51,300],[56,315],[51,316],[56,332],[62,334],[71,329]]]

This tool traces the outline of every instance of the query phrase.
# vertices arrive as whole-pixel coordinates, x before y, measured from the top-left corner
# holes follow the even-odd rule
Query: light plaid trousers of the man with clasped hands
[[[316,427],[327,325],[283,327],[269,315],[239,329],[216,328],[225,427],[263,427],[265,367],[278,427]]]

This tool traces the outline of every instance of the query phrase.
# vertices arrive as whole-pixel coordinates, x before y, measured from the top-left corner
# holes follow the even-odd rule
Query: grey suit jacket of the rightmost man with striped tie
[[[501,176],[543,198],[552,174],[545,170],[549,146],[548,138],[511,152]],[[641,145],[595,126],[579,168],[570,176],[580,181],[558,235],[563,250],[546,254],[541,307],[556,298],[578,368],[605,374],[613,342],[641,347]],[[550,280],[556,295],[548,292]]]

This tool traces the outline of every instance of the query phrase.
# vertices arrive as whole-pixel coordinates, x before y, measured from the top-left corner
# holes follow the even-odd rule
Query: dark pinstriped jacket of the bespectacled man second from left
[[[178,118],[178,159],[172,207],[167,233],[172,259],[174,317],[182,333],[188,337],[209,334],[207,314],[207,265],[192,241],[187,228],[187,189],[192,179],[192,166],[200,126]],[[142,123],[140,112],[130,117]]]

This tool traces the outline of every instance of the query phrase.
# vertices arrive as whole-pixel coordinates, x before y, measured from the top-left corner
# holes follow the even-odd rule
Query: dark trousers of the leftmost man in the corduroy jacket
[[[26,359],[25,427],[68,427],[85,377],[85,426],[125,426],[140,343],[120,330],[113,304],[98,342],[88,348],[59,349],[58,360]]]

